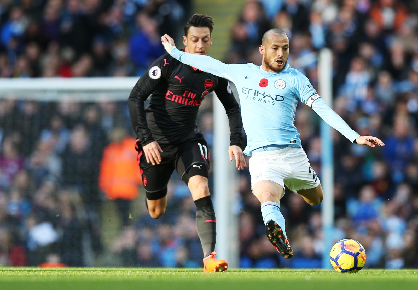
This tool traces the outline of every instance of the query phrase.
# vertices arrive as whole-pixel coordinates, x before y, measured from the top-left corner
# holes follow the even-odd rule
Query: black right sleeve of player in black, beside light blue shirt
[[[231,131],[231,145],[242,146],[242,119],[240,105],[232,94],[227,80],[219,78],[219,84],[215,93],[228,116],[229,131]]]

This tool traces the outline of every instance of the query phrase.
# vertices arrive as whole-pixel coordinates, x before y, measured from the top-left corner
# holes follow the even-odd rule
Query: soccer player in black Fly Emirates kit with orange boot
[[[184,27],[184,51],[207,54],[212,45],[214,20],[195,14]],[[135,148],[146,191],[150,216],[166,211],[167,185],[174,169],[188,185],[196,204],[196,229],[202,244],[203,272],[225,271],[228,263],[215,259],[216,217],[209,195],[210,154],[196,118],[204,97],[214,91],[229,119],[229,159],[235,156],[244,169],[241,150],[240,107],[227,80],[182,64],[169,54],[161,56],[140,77],[128,99],[131,121],[138,139]],[[144,101],[150,96],[150,105]]]

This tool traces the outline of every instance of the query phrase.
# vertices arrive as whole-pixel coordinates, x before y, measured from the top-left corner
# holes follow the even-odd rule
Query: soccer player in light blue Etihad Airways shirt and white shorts
[[[308,78],[287,64],[289,39],[280,29],[273,28],[264,34],[260,46],[261,67],[252,63],[224,64],[209,56],[184,53],[176,49],[167,34],[161,41],[168,53],[184,64],[236,85],[247,134],[244,154],[251,156],[252,192],[260,200],[269,241],[284,258],[291,258],[293,250],[280,212],[284,185],[310,205],[318,205],[324,196],[293,125],[298,101],[311,107],[353,143],[371,147],[385,144],[373,136],[359,136],[322,100]]]

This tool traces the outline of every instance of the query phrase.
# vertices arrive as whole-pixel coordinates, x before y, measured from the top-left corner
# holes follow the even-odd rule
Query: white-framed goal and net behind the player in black
[[[164,216],[154,220],[145,208],[127,108],[137,80],[0,80],[0,236],[8,247],[2,264],[202,266],[194,203],[176,172]],[[214,134],[221,144],[229,141],[224,113],[215,121],[220,133],[212,130],[212,99],[206,97],[198,118],[209,150]],[[229,165],[218,166],[224,167],[219,180],[230,183]],[[211,192],[225,188],[213,184],[212,172]],[[228,208],[224,200],[216,204]],[[218,217],[218,241],[227,232],[222,218],[228,214]]]

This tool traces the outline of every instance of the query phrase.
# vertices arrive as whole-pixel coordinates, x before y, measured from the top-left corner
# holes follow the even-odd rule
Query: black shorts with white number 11
[[[194,175],[208,177],[210,154],[203,136],[179,144],[159,145],[163,149],[163,152],[160,152],[161,162],[153,165],[147,162],[139,139],[135,142],[135,149],[138,151],[137,160],[149,200],[157,200],[167,195],[168,180],[174,169],[186,184]]]

